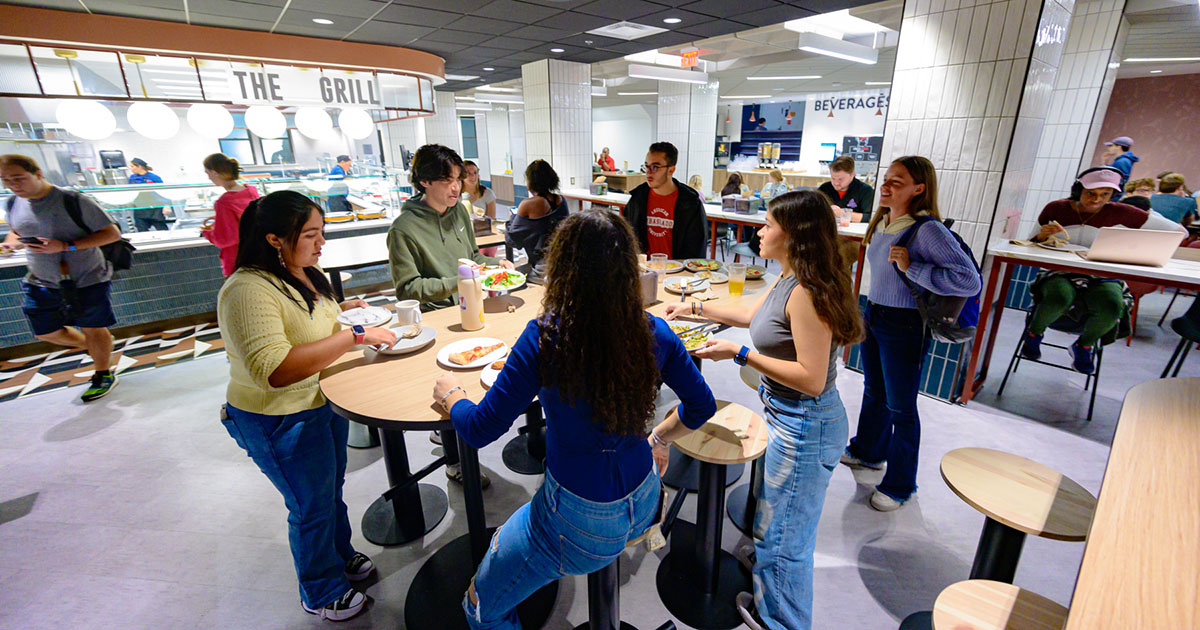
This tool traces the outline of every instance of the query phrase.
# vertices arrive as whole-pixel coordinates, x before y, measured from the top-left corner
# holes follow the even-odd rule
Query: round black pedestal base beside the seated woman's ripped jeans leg
[[[494,527],[487,528],[491,539]],[[404,599],[404,626],[409,630],[469,630],[462,611],[475,563],[470,558],[470,535],[463,534],[438,550],[421,565]],[[546,625],[558,599],[558,582],[551,582],[517,606],[521,626],[535,630]]]

